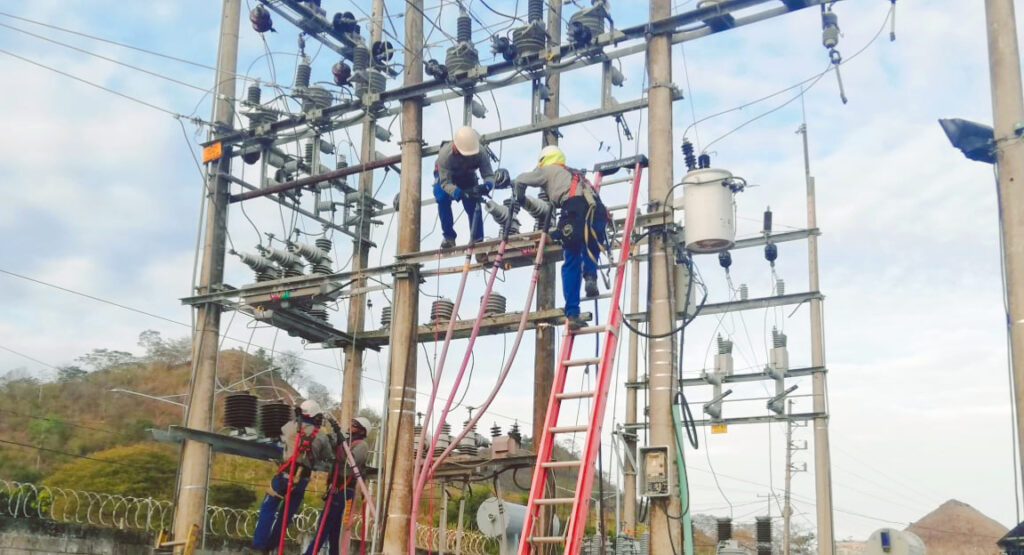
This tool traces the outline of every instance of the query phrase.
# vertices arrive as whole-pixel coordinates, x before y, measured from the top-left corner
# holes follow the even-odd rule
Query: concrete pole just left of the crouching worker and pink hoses
[[[406,86],[423,81],[423,0],[406,1]],[[401,101],[401,189],[398,254],[420,250],[420,188],[423,174],[423,98]],[[408,553],[413,505],[413,425],[416,413],[416,330],[419,317],[418,267],[394,274],[391,309],[391,371],[387,444],[384,450],[386,514],[383,553]]]

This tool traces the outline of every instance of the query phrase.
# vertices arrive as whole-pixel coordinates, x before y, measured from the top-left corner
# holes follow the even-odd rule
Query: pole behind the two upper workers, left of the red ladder
[[[561,44],[562,37],[562,3],[548,4],[548,37],[551,44]],[[552,74],[548,78],[550,96],[544,103],[544,116],[549,119],[558,118],[559,106],[559,76]],[[544,131],[541,146],[558,144],[555,129]],[[545,262],[537,278],[537,309],[549,310],[555,307],[555,263]],[[536,334],[534,350],[534,452],[537,452],[541,435],[544,433],[544,417],[548,411],[548,398],[551,396],[551,385],[555,378],[555,327],[539,326]]]

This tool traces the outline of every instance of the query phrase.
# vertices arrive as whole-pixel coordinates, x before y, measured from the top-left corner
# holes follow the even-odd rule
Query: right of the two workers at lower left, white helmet
[[[370,453],[370,447],[366,442],[370,420],[357,417],[352,420],[349,427],[348,449],[352,453],[355,469],[349,465],[342,443],[346,439],[341,433],[340,426],[333,420],[331,426],[334,428],[336,442],[334,466],[328,473],[327,492],[324,494],[324,513],[321,515],[313,541],[306,548],[305,555],[318,553],[324,545],[328,546],[329,555],[338,555],[341,545],[341,521],[345,516],[345,502],[355,497],[356,470],[359,472],[358,476],[361,476],[367,456]],[[364,503],[369,502],[369,500],[364,500]]]

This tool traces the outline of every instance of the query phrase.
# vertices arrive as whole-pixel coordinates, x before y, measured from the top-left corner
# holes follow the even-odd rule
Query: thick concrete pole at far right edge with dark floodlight
[[[1024,122],[1020,52],[1013,0],[985,0],[988,23],[988,63],[992,83],[992,127],[999,180],[999,225],[1006,271],[1011,368],[1020,484],[1024,484],[1024,142],[1018,128]]]

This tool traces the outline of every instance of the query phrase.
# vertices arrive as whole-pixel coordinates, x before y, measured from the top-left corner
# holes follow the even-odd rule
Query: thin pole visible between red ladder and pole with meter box
[[[640,259],[630,260],[630,312],[640,311]],[[637,382],[637,366],[640,354],[640,336],[630,334],[629,358],[626,360],[626,381],[631,384]],[[637,455],[636,430],[629,427],[637,421],[637,388],[626,388],[626,424],[625,432],[626,457],[623,458],[623,529],[618,533],[624,533],[630,538],[636,538],[637,533],[637,469],[631,457]]]

